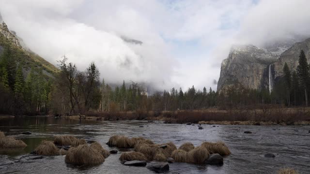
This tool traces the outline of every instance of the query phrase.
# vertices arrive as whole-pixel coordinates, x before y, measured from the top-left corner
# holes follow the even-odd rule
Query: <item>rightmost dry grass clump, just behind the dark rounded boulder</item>
[[[221,156],[230,155],[231,151],[223,142],[217,143],[210,143],[210,142],[203,142],[202,147],[206,148],[210,154],[218,153]]]

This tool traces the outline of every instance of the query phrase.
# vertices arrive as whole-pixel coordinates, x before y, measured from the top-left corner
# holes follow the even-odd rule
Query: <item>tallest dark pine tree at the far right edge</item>
[[[305,101],[306,106],[308,106],[307,88],[309,86],[309,65],[307,62],[305,52],[303,50],[300,51],[298,63],[299,65],[297,66],[297,75],[299,78],[300,85],[305,90]]]

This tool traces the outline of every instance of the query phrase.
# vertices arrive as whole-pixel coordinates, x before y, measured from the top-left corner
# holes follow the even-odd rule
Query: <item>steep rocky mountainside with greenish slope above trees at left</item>
[[[53,76],[58,71],[54,65],[27,48],[16,32],[9,30],[8,26],[2,22],[0,23],[0,55],[5,48],[12,50],[11,53],[16,62],[21,63],[25,76],[31,67],[37,71],[43,71],[47,76]]]

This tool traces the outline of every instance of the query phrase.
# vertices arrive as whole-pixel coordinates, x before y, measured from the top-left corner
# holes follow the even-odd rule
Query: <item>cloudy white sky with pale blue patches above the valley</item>
[[[80,71],[95,62],[108,83],[216,90],[233,44],[309,35],[309,6],[310,0],[0,0],[0,13],[54,65],[66,55]]]

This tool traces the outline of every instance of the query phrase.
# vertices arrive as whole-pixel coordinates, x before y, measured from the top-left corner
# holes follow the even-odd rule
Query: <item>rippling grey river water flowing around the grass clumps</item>
[[[144,127],[139,127],[143,125]],[[218,126],[218,127],[217,127]],[[200,145],[203,141],[223,141],[232,155],[224,158],[224,165],[195,165],[172,163],[170,171],[180,174],[275,174],[283,167],[293,167],[303,174],[310,173],[309,126],[238,126],[202,125],[199,130],[186,124],[147,123],[145,121],[86,121],[47,116],[26,116],[0,120],[0,131],[22,139],[28,146],[19,151],[0,150],[0,173],[10,174],[153,174],[145,167],[128,167],[118,160],[121,152],[111,154],[103,164],[94,167],[72,166],[64,162],[64,156],[50,156],[38,160],[20,159],[29,154],[44,139],[60,134],[72,134],[79,138],[89,137],[105,149],[111,135],[142,136],[155,143],[184,142]],[[31,131],[31,135],[20,134]],[[244,131],[252,131],[245,134]],[[275,158],[265,158],[273,153]],[[13,162],[12,162],[13,161]]]

